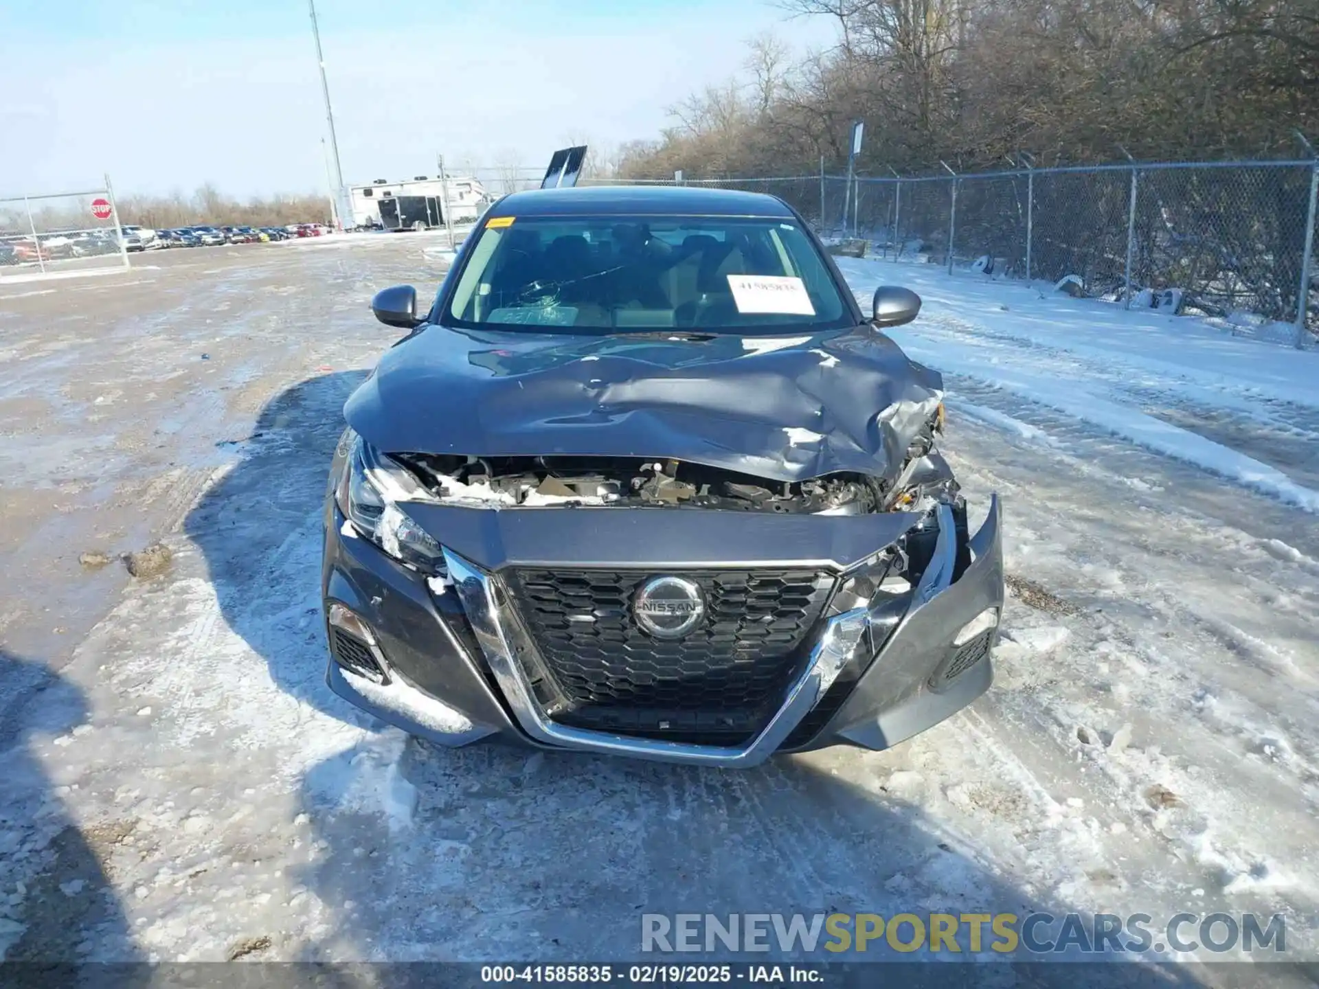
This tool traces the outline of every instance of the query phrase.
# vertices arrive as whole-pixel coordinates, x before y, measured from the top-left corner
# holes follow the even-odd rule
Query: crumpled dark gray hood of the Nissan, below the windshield
[[[385,452],[675,458],[799,481],[893,477],[942,392],[865,326],[710,340],[430,326],[344,415]]]

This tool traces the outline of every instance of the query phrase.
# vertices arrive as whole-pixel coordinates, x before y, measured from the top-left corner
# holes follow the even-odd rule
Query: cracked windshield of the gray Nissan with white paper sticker
[[[795,220],[496,216],[448,306],[459,326],[725,334],[830,330],[851,313]]]

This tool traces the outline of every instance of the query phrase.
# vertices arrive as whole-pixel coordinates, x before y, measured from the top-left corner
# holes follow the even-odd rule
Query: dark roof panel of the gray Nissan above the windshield
[[[772,195],[707,186],[578,186],[513,193],[491,207],[491,216],[791,216]]]

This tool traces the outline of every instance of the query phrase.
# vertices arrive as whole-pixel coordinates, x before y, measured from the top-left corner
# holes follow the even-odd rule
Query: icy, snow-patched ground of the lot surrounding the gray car
[[[442,243],[0,290],[3,957],[621,959],[648,913],[1045,909],[1281,913],[1319,959],[1319,355],[843,261],[926,299],[893,335],[946,372],[972,524],[1004,500],[991,692],[741,773],[443,752],[324,687],[317,585],[340,407],[394,339],[367,301],[427,294]]]

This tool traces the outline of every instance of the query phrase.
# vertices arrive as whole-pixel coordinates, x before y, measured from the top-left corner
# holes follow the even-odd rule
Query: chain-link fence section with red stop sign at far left
[[[141,239],[117,223],[104,187],[0,199],[0,282],[127,268]]]

